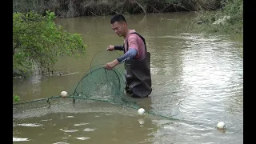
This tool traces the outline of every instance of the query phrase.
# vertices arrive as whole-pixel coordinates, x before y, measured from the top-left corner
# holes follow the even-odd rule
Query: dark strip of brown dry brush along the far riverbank
[[[103,16],[109,14],[148,14],[174,11],[218,10],[226,0],[14,0],[13,11],[29,10],[44,14],[53,11],[58,17]]]

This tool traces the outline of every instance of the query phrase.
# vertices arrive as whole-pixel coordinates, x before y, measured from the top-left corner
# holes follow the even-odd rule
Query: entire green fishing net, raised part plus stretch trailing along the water
[[[99,105],[108,107],[106,104],[102,104],[102,102],[118,104],[122,108],[125,106],[138,110],[140,106],[125,92],[124,66],[118,65],[113,70],[106,70],[103,67],[106,62],[113,61],[119,55],[115,52],[99,52],[95,54],[90,63],[90,69],[86,71],[86,74],[83,75],[77,85],[68,91],[67,98],[62,98],[58,95],[30,102],[14,103],[14,117],[36,116],[49,112],[68,112],[70,110],[70,112],[77,112],[78,109],[74,107],[78,108],[81,102],[83,103],[80,106],[83,107],[80,107],[80,110],[95,110]],[[147,113],[154,114],[150,111],[147,111]],[[161,116],[159,114],[154,115]],[[166,116],[161,117],[168,118]]]

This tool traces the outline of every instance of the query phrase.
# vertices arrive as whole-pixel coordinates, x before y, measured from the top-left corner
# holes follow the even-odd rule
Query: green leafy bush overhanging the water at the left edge
[[[46,16],[34,11],[13,14],[13,70],[18,74],[28,76],[34,66],[50,70],[59,56],[85,55],[81,35],[57,26],[55,18],[50,11],[46,11]]]

